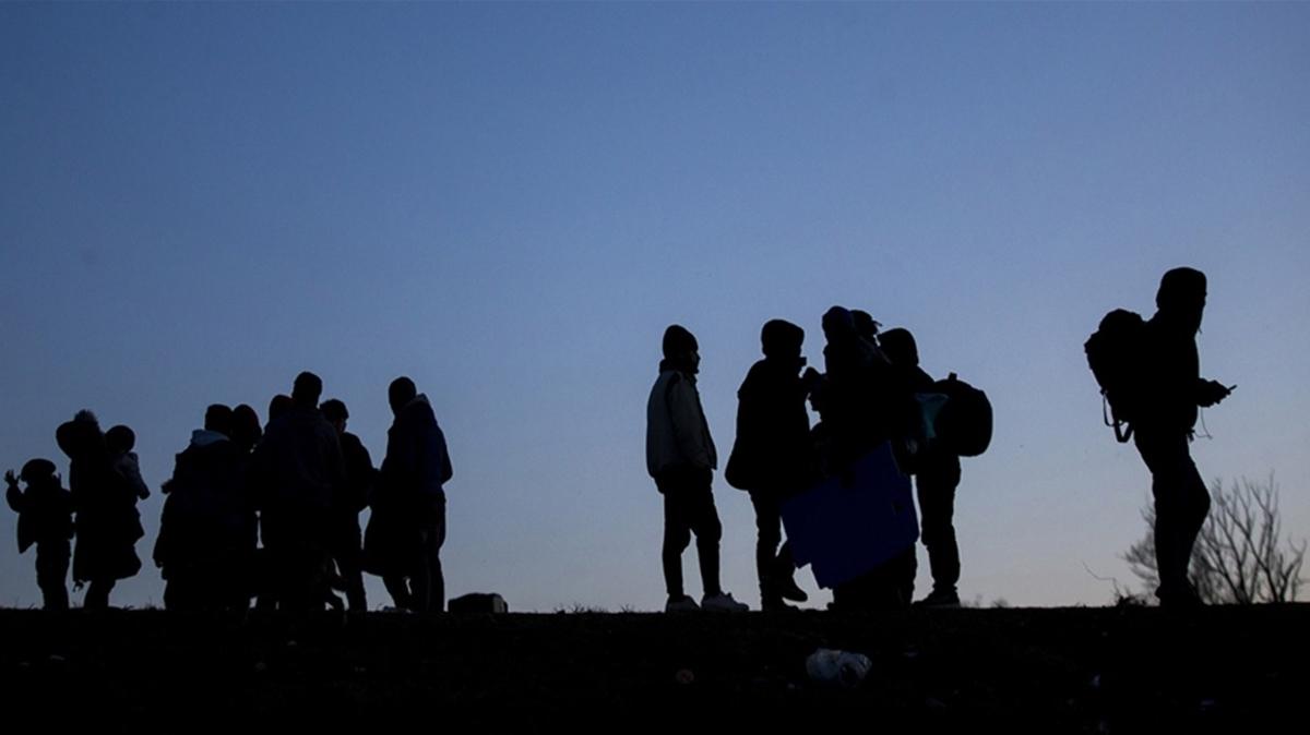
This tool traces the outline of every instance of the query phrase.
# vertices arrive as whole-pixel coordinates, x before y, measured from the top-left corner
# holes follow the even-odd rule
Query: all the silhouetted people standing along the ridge
[[[1161,281],[1154,316],[1115,310],[1086,344],[1116,436],[1136,441],[1151,473],[1157,595],[1170,607],[1200,604],[1188,564],[1210,500],[1188,445],[1199,408],[1233,390],[1200,377],[1196,333],[1205,298],[1200,271],[1171,269]],[[823,332],[819,373],[806,368],[800,327],[782,319],[764,324],[764,358],[738,391],[736,441],[724,473],[728,484],[749,493],[755,507],[761,607],[791,609],[787,600],[807,598],[782,539],[787,501],[825,480],[849,484],[855,463],[883,445],[917,489],[933,590],[914,604],[959,606],[954,509],[960,455],[976,455],[990,442],[990,404],[954,374],[934,381],[920,368],[910,332],[880,331],[865,311],[834,306],[823,316]],[[646,433],[647,471],[664,504],[665,611],[744,611],[719,579],[722,524],[711,489],[718,454],[697,390],[700,362],[692,332],[669,326],[647,402]],[[290,396],[270,403],[263,428],[249,405],[208,407],[204,426],[177,455],[173,476],[161,488],[166,500],[153,558],[166,582],[165,608],[246,609],[257,600],[269,609],[322,609],[342,606],[335,590],[345,592],[350,609],[363,611],[364,572],[383,578],[396,608],[444,608],[440,549],[444,484],[452,472],[431,404],[409,378],[390,383],[394,421],[381,468],[375,468],[359,438],[346,432],[346,404],[320,404],[321,392],[322,381],[301,373]],[[976,403],[973,394],[981,396],[980,412],[955,408]],[[807,402],[819,416],[814,426]],[[5,473],[7,500],[18,513],[18,548],[37,548],[37,582],[47,609],[68,608],[69,560],[75,583],[88,586],[83,606],[105,608],[117,581],[141,566],[135,545],[144,531],[136,504],[149,490],[132,451],[135,436],[127,426],[102,432],[96,416],[81,411],[55,438],[69,460],[67,489],[47,459],[28,462],[18,475]],[[371,515],[362,532],[359,514],[365,507]],[[683,552],[693,535],[700,603],[683,581]],[[838,583],[831,607],[907,607],[916,570],[910,543]]]

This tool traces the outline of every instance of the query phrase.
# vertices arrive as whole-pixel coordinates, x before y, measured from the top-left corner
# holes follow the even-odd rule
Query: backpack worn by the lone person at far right
[[[1115,309],[1100,320],[1083,343],[1087,366],[1100,386],[1102,419],[1115,428],[1115,438],[1127,442],[1142,404],[1141,354],[1146,322],[1141,314]],[[1107,411],[1108,407],[1108,411]]]

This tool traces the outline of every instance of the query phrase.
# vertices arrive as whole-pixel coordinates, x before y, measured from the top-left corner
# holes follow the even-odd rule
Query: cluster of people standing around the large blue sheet
[[[959,551],[952,514],[960,480],[959,456],[934,441],[917,392],[934,381],[918,366],[907,330],[879,333],[865,311],[834,306],[823,318],[824,373],[806,369],[804,331],[774,319],[760,335],[764,358],[738,391],[736,441],[726,467],[728,484],[747,490],[755,507],[756,572],[761,607],[789,609],[807,595],[794,579],[795,564],[782,540],[782,506],[824,477],[850,473],[874,447],[892,442],[901,467],[918,477],[924,543],[934,590],[920,604],[959,604]],[[711,492],[718,456],[696,386],[696,337],[679,324],[664,332],[659,378],[647,402],[647,471],[664,501],[663,568],[669,612],[740,611],[719,585],[722,526]],[[802,373],[804,369],[804,373]],[[820,421],[810,426],[807,400]],[[686,595],[681,555],[696,535],[703,596]],[[834,589],[836,609],[908,606],[914,587],[913,545],[895,558]]]

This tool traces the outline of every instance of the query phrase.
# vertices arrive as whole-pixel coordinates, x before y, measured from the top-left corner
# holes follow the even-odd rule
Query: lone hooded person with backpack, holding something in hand
[[[1115,413],[1116,434],[1120,441],[1133,439],[1151,473],[1159,572],[1155,596],[1166,607],[1201,604],[1187,568],[1210,496],[1188,445],[1199,408],[1222,402],[1235,387],[1201,378],[1196,333],[1205,310],[1205,273],[1193,268],[1169,271],[1155,294],[1155,315],[1141,323],[1136,335],[1131,327],[1114,326],[1131,323],[1133,315],[1114,311],[1086,345]],[[1104,339],[1114,330],[1128,337]],[[1128,430],[1120,432],[1124,422]]]

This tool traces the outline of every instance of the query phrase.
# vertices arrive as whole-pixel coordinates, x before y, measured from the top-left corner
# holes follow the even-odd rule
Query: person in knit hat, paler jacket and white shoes
[[[659,378],[646,403],[646,470],[664,496],[664,545],[662,562],[668,590],[667,612],[697,609],[696,600],[683,589],[683,552],[696,534],[705,590],[701,607],[717,611],[744,611],[719,585],[719,539],[723,526],[714,507],[714,470],[718,455],[710,425],[696,390],[700,371],[700,345],[692,332],[679,324],[664,331],[664,360]]]

